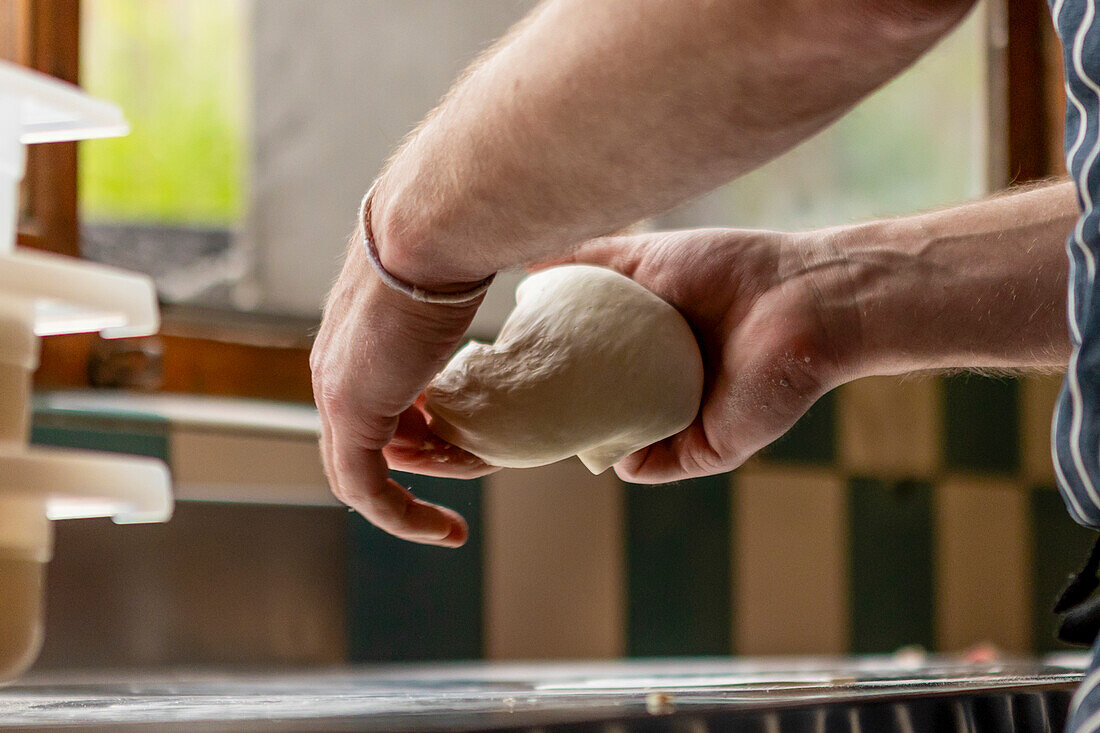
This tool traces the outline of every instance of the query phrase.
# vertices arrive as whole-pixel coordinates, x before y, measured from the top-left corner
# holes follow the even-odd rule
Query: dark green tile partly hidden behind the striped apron
[[[1069,517],[1062,495],[1053,486],[1040,486],[1031,493],[1032,620],[1036,652],[1065,650],[1070,647],[1054,634],[1058,619],[1052,609],[1069,578],[1085,564],[1097,534]]]

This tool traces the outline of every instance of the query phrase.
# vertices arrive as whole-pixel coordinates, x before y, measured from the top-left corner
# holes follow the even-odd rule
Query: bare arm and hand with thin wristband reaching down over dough
[[[371,221],[393,274],[444,289],[561,254],[774,157],[916,59],[972,0],[549,0],[391,161]],[[359,241],[310,364],[333,492],[397,536],[462,518],[387,478],[491,470],[414,404],[477,304],[383,285]]]

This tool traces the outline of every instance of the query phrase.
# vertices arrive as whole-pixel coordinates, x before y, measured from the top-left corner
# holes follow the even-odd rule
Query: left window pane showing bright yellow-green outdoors
[[[80,80],[131,133],[82,143],[85,256],[153,275],[161,298],[233,307],[248,174],[248,4],[84,0]]]

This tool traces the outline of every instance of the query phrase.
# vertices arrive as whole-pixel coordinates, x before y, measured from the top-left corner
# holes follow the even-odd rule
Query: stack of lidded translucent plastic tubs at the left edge
[[[42,645],[54,519],[172,515],[161,461],[28,445],[38,339],[144,336],[156,331],[158,311],[145,276],[15,249],[25,145],[127,132],[116,106],[0,62],[0,681],[24,671]]]

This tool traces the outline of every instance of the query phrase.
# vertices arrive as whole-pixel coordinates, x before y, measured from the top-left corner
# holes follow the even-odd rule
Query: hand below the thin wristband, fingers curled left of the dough
[[[414,404],[479,303],[432,305],[382,283],[356,238],[329,295],[310,366],[321,415],[321,457],[333,493],[386,532],[458,547],[462,517],[388,478],[397,469],[472,478],[492,471],[431,434]]]

